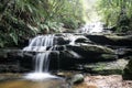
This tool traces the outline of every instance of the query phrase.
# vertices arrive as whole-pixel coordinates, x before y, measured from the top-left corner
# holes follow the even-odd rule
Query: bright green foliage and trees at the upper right
[[[131,30],[132,0],[99,0],[98,12],[108,26],[117,26],[117,32]]]

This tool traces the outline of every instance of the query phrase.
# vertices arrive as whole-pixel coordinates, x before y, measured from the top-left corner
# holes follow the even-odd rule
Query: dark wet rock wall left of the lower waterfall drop
[[[22,50],[1,50],[0,73],[25,73],[34,68],[33,57],[36,52]]]

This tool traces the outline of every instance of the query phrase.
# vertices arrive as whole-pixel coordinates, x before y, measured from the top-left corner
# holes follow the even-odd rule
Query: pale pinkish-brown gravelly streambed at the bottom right
[[[123,80],[120,75],[86,76],[84,82],[73,88],[132,88],[132,81]]]

